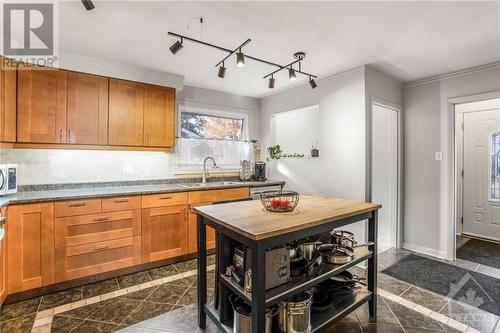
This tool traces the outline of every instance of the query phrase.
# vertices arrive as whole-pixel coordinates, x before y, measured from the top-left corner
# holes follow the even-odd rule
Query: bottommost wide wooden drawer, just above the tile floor
[[[99,274],[141,263],[141,237],[126,237],[59,249],[56,282]]]

